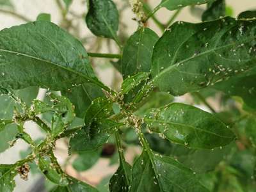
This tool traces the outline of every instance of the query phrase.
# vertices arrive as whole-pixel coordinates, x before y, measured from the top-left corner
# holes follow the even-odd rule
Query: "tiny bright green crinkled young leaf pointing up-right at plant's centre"
[[[139,72],[138,74],[127,77],[124,82],[122,83],[121,92],[123,94],[127,94],[131,92],[136,86],[138,86],[141,81],[145,81],[148,79],[148,73]]]

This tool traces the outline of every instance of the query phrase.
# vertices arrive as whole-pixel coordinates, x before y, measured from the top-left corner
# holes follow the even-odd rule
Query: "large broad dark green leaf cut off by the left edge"
[[[102,86],[81,42],[42,20],[0,31],[0,71],[4,88],[67,90],[87,81]]]

